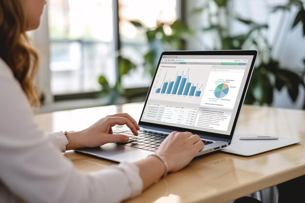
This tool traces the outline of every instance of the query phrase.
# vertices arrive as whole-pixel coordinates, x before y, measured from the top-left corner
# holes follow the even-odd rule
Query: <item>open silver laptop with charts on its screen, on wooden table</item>
[[[134,162],[154,153],[172,131],[198,134],[205,148],[197,156],[230,145],[257,57],[254,50],[163,52],[138,122],[125,143],[76,152],[115,162]],[[115,135],[114,135],[115,136]]]

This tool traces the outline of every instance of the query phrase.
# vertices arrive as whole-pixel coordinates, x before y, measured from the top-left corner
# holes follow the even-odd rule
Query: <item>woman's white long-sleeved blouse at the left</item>
[[[85,174],[60,153],[67,143],[63,132],[45,135],[38,129],[0,58],[0,203],[118,203],[141,193],[137,166],[121,163]]]

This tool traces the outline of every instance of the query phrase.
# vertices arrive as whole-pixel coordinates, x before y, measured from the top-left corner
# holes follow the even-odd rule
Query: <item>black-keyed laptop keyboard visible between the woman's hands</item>
[[[123,134],[129,137],[129,141],[124,143],[115,143],[116,145],[129,146],[132,148],[140,148],[148,151],[157,151],[163,140],[168,136],[168,134],[152,132],[147,130],[139,130],[139,134],[136,136],[132,131],[120,131],[115,130],[114,134]],[[209,145],[213,142],[201,140],[205,145]]]

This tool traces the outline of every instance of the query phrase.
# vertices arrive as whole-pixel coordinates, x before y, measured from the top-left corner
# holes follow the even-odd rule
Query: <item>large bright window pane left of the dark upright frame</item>
[[[98,76],[115,83],[112,0],[51,0],[51,92],[100,90]]]

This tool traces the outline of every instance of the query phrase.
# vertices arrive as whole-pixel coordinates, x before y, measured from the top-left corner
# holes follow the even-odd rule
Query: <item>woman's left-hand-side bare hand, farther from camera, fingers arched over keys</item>
[[[87,129],[78,132],[68,132],[69,144],[67,150],[75,148],[94,148],[111,142],[126,142],[129,137],[126,135],[113,135],[112,127],[115,125],[126,125],[134,135],[138,135],[140,127],[136,121],[127,113],[117,113],[98,120]]]

